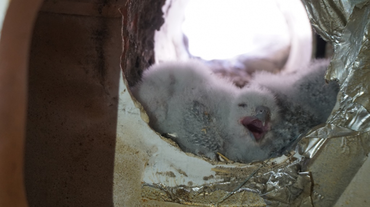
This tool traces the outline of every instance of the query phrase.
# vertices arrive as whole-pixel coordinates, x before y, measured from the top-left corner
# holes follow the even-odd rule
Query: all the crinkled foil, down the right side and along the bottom
[[[271,161],[254,164],[253,173],[233,175],[220,170],[216,176],[224,177],[223,183],[198,187],[143,183],[143,197],[201,206],[331,206],[336,202],[370,151],[370,3],[302,2],[316,32],[335,49],[325,78],[341,85],[327,123],[310,130],[298,144],[302,157],[289,157],[277,167]]]

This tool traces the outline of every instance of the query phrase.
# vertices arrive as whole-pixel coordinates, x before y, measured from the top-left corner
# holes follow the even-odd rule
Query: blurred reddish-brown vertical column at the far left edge
[[[0,40],[0,206],[27,206],[23,154],[29,43],[42,0],[12,0]]]

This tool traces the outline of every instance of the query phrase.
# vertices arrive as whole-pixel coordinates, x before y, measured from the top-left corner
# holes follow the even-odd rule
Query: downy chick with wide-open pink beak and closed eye
[[[228,135],[223,153],[228,159],[250,163],[269,158],[266,147],[274,141],[271,127],[279,120],[279,108],[271,91],[260,87],[240,89],[231,103]]]

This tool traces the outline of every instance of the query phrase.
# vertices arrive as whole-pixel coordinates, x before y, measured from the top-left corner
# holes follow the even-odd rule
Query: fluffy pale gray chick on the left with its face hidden
[[[221,130],[235,87],[219,81],[197,62],[163,63],[146,70],[132,92],[143,105],[150,125],[172,134],[180,148],[215,159],[223,146]],[[217,91],[217,92],[216,92]]]

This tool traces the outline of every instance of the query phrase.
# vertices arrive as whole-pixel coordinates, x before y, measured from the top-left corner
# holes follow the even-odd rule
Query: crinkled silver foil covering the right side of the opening
[[[368,0],[303,3],[316,32],[335,50],[325,78],[338,80],[341,85],[332,116],[326,124],[311,130],[299,149],[304,156],[313,158],[305,170],[312,172],[315,182],[314,205],[332,206],[370,151],[370,3]]]

